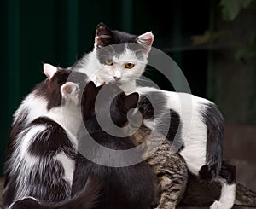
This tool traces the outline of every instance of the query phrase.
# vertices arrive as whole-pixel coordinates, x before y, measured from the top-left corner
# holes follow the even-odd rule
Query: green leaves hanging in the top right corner
[[[221,0],[224,20],[234,20],[242,8],[247,8],[253,0]]]

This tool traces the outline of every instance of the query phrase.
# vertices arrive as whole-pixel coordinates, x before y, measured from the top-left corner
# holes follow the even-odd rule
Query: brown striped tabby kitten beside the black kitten
[[[147,140],[148,136],[150,141]],[[160,139],[163,140],[161,146],[158,146],[154,154],[146,160],[156,178],[154,208],[176,208],[183,197],[188,179],[185,161],[179,154],[173,153],[171,142],[158,133],[152,133],[152,130],[145,125],[141,125],[131,139],[136,145],[148,143],[145,148],[148,151],[157,147]]]

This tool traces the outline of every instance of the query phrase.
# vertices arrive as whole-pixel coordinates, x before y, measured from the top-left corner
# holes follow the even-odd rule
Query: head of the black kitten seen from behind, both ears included
[[[105,84],[96,87],[91,81],[86,85],[82,96],[83,118],[84,120],[90,119],[96,112],[97,114],[104,115],[110,113],[113,123],[122,127],[127,123],[127,113],[132,108],[137,107],[138,99],[139,95],[137,92],[125,95],[115,84]],[[108,107],[110,108],[108,109]]]

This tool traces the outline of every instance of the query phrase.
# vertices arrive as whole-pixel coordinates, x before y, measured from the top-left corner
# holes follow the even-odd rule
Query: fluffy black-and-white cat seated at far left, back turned
[[[5,162],[8,182],[3,190],[4,206],[26,196],[61,201],[71,195],[81,120],[79,85],[67,82],[70,73],[62,69],[46,73],[49,78],[41,84],[45,85],[41,96],[48,101],[47,113],[20,128],[12,138],[14,151]],[[84,74],[73,73],[72,79],[84,82]]]

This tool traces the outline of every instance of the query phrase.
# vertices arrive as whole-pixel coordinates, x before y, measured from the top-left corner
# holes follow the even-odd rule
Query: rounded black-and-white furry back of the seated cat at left
[[[4,205],[24,196],[60,201],[71,194],[76,150],[66,131],[52,119],[39,117],[15,140],[7,161],[9,182]]]

